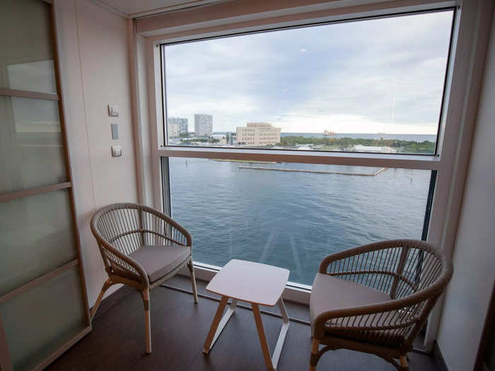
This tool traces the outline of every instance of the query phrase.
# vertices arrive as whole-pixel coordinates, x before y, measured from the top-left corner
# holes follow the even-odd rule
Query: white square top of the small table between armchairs
[[[206,290],[243,302],[273,307],[288,279],[289,269],[233,259],[216,273]]]

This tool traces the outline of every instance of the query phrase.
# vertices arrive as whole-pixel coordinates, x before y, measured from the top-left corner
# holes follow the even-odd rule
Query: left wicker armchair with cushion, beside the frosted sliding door
[[[190,232],[165,214],[138,204],[112,204],[100,209],[91,218],[91,231],[108,273],[91,319],[111,285],[123,283],[136,288],[144,303],[146,353],[151,353],[149,291],[187,265],[197,302]]]

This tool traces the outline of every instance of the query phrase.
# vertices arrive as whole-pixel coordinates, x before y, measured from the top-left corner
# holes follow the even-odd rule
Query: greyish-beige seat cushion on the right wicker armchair
[[[317,273],[310,297],[311,324],[314,324],[319,314],[328,310],[342,310],[389,300],[390,296],[381,291],[342,278]]]

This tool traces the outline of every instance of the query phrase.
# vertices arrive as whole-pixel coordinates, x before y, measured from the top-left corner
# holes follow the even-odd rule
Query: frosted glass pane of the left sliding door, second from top
[[[0,96],[0,193],[66,180],[58,102]]]

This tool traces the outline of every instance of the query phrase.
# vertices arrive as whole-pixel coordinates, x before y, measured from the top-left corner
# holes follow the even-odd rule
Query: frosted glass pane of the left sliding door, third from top
[[[0,295],[73,259],[66,189],[0,202]]]

